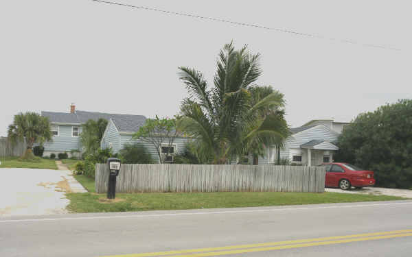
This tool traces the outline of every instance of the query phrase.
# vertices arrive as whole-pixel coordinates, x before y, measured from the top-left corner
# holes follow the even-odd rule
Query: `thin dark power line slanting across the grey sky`
[[[341,39],[341,38],[331,38],[327,36],[322,36],[322,35],[317,35],[317,34],[310,34],[310,33],[302,33],[302,32],[296,32],[290,29],[279,29],[275,27],[266,27],[262,25],[256,25],[253,23],[242,23],[238,21],[230,21],[230,20],[225,20],[225,19],[218,19],[214,17],[208,17],[208,16],[200,16],[196,14],[188,14],[185,12],[173,12],[173,11],[168,11],[168,10],[161,10],[158,8],[149,8],[145,6],[139,6],[139,5],[130,5],[126,3],[117,3],[113,1],[104,1],[104,0],[91,0],[95,2],[100,2],[100,3],[108,3],[112,5],[120,5],[128,8],[135,8],[139,10],[146,10],[146,11],[152,11],[152,12],[163,12],[164,14],[174,14],[174,15],[180,15],[180,16],[187,16],[187,17],[192,17],[196,19],[204,19],[204,20],[209,20],[209,21],[218,21],[221,23],[231,23],[234,25],[241,25],[245,27],[255,27],[259,29],[266,29],[266,30],[271,30],[271,31],[276,31],[276,32],[282,32],[282,33],[287,33],[287,34],[294,34],[296,36],[306,36],[310,38],[319,38],[319,39],[325,39],[325,40],[330,40],[330,41],[335,41],[335,42],[342,42],[342,43],[347,43],[347,44],[352,44],[352,45],[361,45],[363,47],[374,47],[374,48],[379,48],[379,49],[385,49],[385,50],[394,50],[394,51],[401,51],[401,49],[394,48],[394,47],[388,47],[385,45],[374,45],[374,44],[365,44],[361,42],[356,42],[354,40],[347,40],[347,39]]]

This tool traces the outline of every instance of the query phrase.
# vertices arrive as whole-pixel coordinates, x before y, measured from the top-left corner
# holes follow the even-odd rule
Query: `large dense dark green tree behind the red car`
[[[374,171],[378,186],[412,187],[412,100],[359,114],[339,136],[336,161]]]

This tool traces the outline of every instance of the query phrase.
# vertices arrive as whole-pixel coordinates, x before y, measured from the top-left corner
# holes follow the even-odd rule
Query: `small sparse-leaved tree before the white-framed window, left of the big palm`
[[[153,145],[159,156],[159,162],[163,163],[172,154],[170,151],[174,139],[182,136],[181,132],[176,130],[176,119],[160,119],[157,115],[155,119],[146,119],[146,123],[139,127],[139,131],[133,135],[133,138]]]

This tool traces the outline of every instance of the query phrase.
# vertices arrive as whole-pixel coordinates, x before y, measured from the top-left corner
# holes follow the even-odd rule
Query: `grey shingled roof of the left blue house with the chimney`
[[[98,121],[98,119],[113,120],[117,130],[119,132],[137,132],[141,125],[146,122],[146,117],[143,115],[132,114],[110,114],[102,112],[86,112],[77,110],[75,113],[67,112],[41,112],[43,117],[48,117],[51,123],[76,123],[83,124],[92,119]]]

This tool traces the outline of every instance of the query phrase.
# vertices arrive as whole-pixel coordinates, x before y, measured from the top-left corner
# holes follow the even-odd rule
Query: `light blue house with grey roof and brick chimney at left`
[[[139,140],[133,140],[132,136],[146,122],[146,117],[142,115],[108,114],[76,110],[76,106],[73,103],[70,106],[70,112],[43,111],[41,115],[49,118],[53,133],[53,140],[44,144],[44,156],[50,156],[50,154],[56,154],[57,156],[59,153],[67,153],[69,157],[80,155],[82,153],[80,133],[82,132],[82,125],[89,121],[89,119],[98,121],[98,119],[102,118],[108,121],[100,146],[102,149],[111,147],[114,153],[119,152],[126,144],[138,143]],[[169,151],[171,153],[170,161],[172,161],[175,153],[184,149],[185,140],[185,138],[176,138],[174,140],[172,149]],[[152,154],[152,158],[159,160],[157,150],[153,145],[141,143]],[[165,145],[161,146],[160,151],[167,152],[168,149],[165,147]]]

